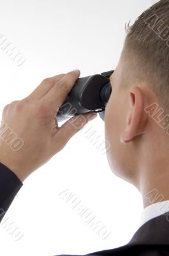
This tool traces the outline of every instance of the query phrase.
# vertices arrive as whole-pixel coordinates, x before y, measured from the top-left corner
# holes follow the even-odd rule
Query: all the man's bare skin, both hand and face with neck
[[[147,193],[156,189],[163,201],[169,200],[169,137],[144,109],[158,96],[149,84],[136,83],[122,89],[122,67],[119,60],[110,77],[112,94],[105,111],[105,140],[110,148],[107,159],[112,172],[133,184],[142,193],[143,207],[153,202]],[[57,154],[66,143],[89,121],[91,113],[71,118],[62,127],[54,120],[56,109],[80,76],[79,71],[61,74],[42,81],[31,95],[11,102],[3,110],[3,121],[24,140],[18,152],[0,140],[0,162],[8,166],[24,181],[41,165]],[[80,121],[81,120],[81,121]],[[83,119],[84,121],[84,119]],[[72,125],[73,124],[73,125]]]

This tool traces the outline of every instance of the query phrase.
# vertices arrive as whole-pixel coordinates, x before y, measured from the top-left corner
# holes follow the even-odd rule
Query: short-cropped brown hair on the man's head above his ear
[[[161,107],[169,113],[169,0],[151,6],[126,30],[124,87],[140,82],[152,86]]]

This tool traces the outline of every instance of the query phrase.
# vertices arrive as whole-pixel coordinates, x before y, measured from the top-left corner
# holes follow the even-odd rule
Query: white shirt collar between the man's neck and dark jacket
[[[151,204],[145,207],[141,214],[140,227],[147,221],[156,218],[161,214],[165,214],[166,212],[169,212],[169,200]]]

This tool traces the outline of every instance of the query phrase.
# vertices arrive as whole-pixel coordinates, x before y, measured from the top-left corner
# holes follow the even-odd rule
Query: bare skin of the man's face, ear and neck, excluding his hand
[[[105,111],[105,139],[111,145],[107,159],[115,175],[140,191],[143,207],[147,207],[169,200],[169,136],[144,111],[154,102],[160,106],[149,84],[136,83],[121,89],[124,61],[119,60],[110,77],[112,94]],[[154,189],[152,201],[147,194]]]

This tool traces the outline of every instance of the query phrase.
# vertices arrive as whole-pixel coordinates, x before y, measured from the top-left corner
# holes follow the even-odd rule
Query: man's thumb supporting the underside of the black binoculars
[[[80,131],[87,122],[91,121],[96,116],[97,114],[92,112],[73,116],[60,127],[59,131],[57,131],[57,138],[59,136],[59,140],[67,142],[73,135]]]

